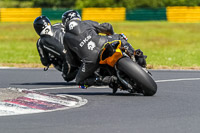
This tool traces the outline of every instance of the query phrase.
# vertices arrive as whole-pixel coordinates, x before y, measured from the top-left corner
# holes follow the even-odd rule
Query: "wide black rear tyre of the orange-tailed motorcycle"
[[[141,86],[145,96],[153,96],[157,92],[157,84],[152,77],[130,58],[121,58],[117,63],[117,68],[129,78],[134,79]]]

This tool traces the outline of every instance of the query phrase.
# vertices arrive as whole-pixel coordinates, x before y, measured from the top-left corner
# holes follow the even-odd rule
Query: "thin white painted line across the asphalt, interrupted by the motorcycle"
[[[184,79],[167,79],[167,80],[156,80],[156,83],[164,83],[164,82],[178,82],[178,81],[195,81],[200,80],[200,78],[184,78]],[[107,86],[93,86],[93,88],[106,88]],[[67,88],[78,88],[78,86],[65,86],[65,87],[51,87],[51,88],[36,88],[31,90],[59,90],[59,89],[67,89]]]

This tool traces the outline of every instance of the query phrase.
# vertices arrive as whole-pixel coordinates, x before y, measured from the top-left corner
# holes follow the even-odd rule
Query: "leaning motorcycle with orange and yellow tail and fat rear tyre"
[[[157,92],[157,84],[151,73],[130,58],[126,49],[121,47],[121,40],[106,43],[100,53],[100,67],[96,75],[116,76],[117,84],[112,86],[113,93],[117,89],[129,93],[140,93],[153,96]]]

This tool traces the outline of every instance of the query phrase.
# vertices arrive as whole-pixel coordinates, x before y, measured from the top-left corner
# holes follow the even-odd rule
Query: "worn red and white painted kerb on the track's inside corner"
[[[0,116],[42,113],[80,107],[86,99],[71,95],[50,95],[26,89],[8,88],[23,96],[0,101]],[[12,94],[13,94],[12,93]]]

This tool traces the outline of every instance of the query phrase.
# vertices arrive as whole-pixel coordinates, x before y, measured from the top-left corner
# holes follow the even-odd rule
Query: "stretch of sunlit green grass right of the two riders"
[[[169,22],[113,23],[116,32],[127,34],[133,47],[148,55],[154,67],[200,66],[200,24]]]

